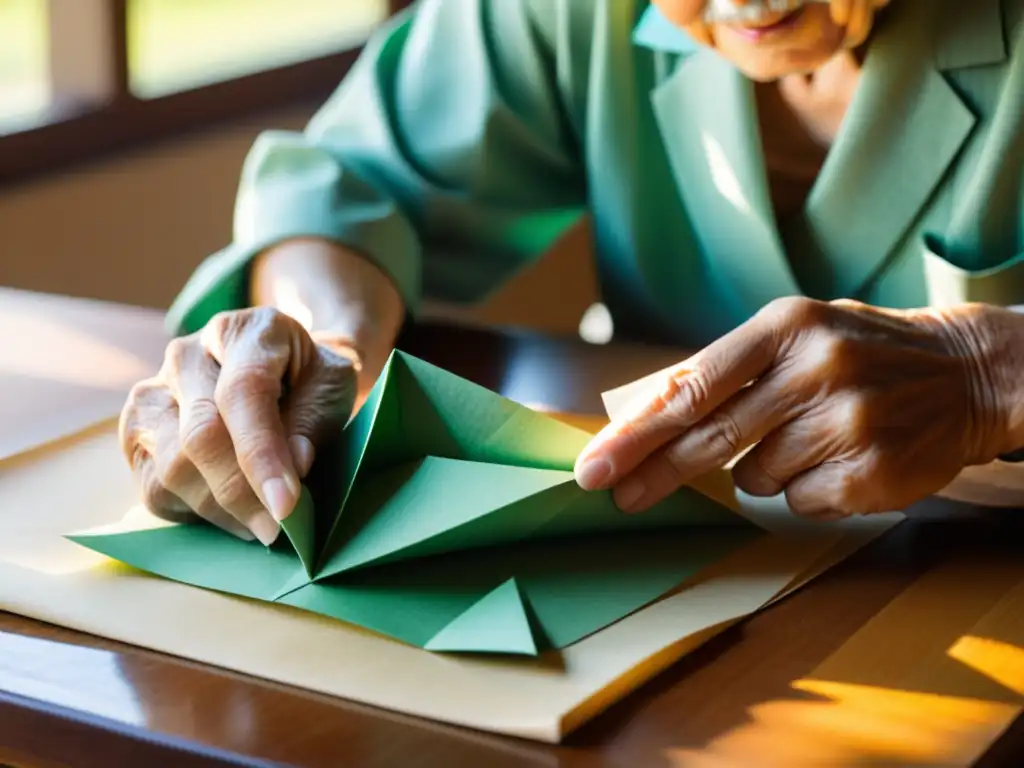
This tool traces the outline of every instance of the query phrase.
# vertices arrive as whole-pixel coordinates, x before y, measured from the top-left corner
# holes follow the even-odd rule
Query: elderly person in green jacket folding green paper
[[[148,506],[272,541],[421,296],[480,299],[585,213],[617,332],[701,350],[580,458],[623,510],[752,446],[739,487],[819,517],[1024,446],[1024,0],[784,5],[385,25],[258,139],[170,312],[122,420]]]

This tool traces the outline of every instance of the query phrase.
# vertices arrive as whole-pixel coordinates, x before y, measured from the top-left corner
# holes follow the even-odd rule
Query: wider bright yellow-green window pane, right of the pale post
[[[387,12],[387,0],[129,0],[129,85],[153,97],[352,48]]]

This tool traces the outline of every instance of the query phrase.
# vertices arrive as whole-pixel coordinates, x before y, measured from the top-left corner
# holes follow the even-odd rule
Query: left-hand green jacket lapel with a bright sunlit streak
[[[798,294],[778,237],[752,83],[709,50],[696,51],[651,93],[679,195],[707,268],[750,312]]]

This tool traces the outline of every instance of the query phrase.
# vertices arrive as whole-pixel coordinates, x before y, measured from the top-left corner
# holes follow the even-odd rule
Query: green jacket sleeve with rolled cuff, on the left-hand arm
[[[231,244],[168,314],[191,333],[248,304],[249,265],[294,238],[346,246],[390,276],[471,301],[583,214],[577,144],[525,0],[422,0],[368,42],[305,131],[269,131],[243,168]]]

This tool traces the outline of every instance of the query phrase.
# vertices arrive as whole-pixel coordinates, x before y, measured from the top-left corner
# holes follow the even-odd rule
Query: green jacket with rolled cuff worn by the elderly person
[[[319,236],[415,314],[475,302],[590,214],[616,333],[702,345],[786,295],[1024,303],[1024,0],[896,0],[802,215],[779,230],[753,84],[645,0],[421,0],[303,133],[243,171],[234,240],[169,315],[246,303]]]

